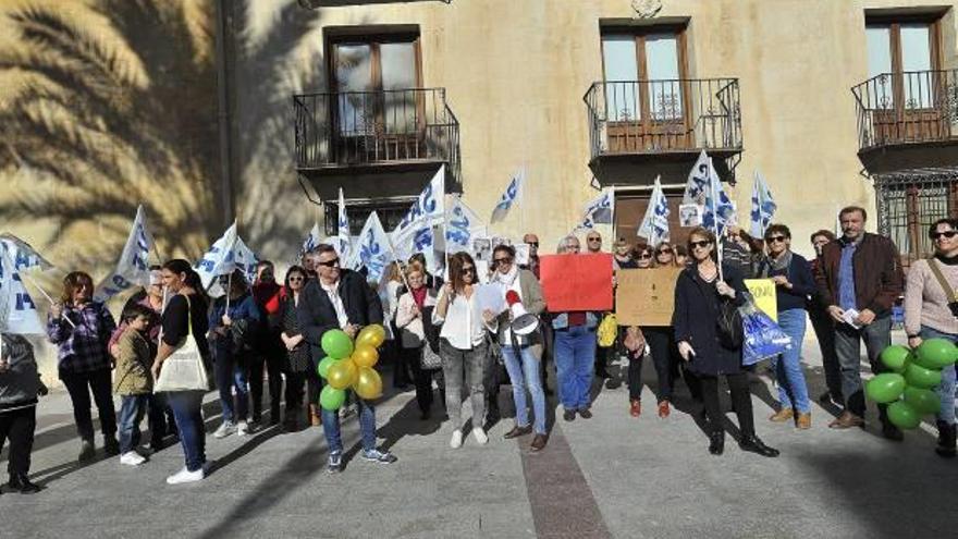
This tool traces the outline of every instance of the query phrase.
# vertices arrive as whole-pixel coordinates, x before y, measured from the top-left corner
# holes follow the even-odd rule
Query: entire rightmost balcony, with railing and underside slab
[[[851,93],[869,172],[958,164],[958,70],[883,73]]]

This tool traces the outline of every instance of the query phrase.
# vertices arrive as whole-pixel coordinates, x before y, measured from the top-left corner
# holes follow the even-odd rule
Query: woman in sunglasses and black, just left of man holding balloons
[[[283,417],[283,428],[286,432],[295,432],[299,429],[304,383],[308,389],[307,402],[309,403],[306,419],[314,426],[320,424],[320,415],[317,409],[320,389],[319,375],[310,364],[309,346],[304,342],[303,333],[299,330],[299,320],[296,316],[299,293],[306,285],[306,270],[300,266],[293,266],[286,270],[281,296],[282,303],[280,304],[280,339],[286,351],[286,362],[283,365],[283,373],[286,376],[286,415]]]

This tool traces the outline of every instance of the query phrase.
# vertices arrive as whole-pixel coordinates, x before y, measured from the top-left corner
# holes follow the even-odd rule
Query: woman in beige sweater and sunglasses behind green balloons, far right
[[[905,287],[905,332],[908,345],[921,345],[924,339],[958,342],[958,220],[938,219],[929,228],[934,243],[932,258],[911,262]],[[934,266],[932,266],[934,265]],[[955,443],[955,366],[942,369],[937,388],[942,409],[936,417],[938,445],[935,453],[950,458]]]

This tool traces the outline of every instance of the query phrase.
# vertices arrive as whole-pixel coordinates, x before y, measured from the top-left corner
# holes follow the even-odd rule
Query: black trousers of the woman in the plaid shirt
[[[79,438],[93,441],[94,419],[90,415],[90,392],[97,411],[100,413],[100,429],[105,439],[116,436],[116,409],[113,407],[113,381],[110,369],[89,372],[61,372],[60,379],[66,385],[70,400],[73,402],[73,419]]]

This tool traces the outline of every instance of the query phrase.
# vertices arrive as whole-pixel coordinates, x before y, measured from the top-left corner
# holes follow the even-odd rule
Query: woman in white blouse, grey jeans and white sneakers
[[[482,429],[486,417],[486,395],[482,379],[486,366],[486,323],[474,284],[476,262],[467,253],[450,257],[449,282],[437,301],[432,321],[442,324],[439,332],[439,353],[445,378],[446,412],[453,427],[450,445],[463,445],[462,388],[465,378],[472,401],[472,437],[479,444],[489,441]]]

